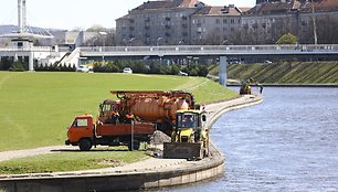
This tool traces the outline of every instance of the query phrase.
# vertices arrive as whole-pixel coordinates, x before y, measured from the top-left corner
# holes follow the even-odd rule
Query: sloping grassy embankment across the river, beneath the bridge
[[[218,74],[218,67],[212,71]],[[263,84],[338,84],[338,62],[232,64],[228,78],[253,77]]]

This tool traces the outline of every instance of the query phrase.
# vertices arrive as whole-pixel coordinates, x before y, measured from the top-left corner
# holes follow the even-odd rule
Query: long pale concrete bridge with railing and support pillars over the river
[[[60,54],[60,52],[63,52]],[[57,54],[59,53],[59,54]],[[172,45],[172,46],[98,46],[77,47],[72,53],[52,50],[50,47],[0,49],[0,56],[29,56],[29,70],[33,71],[33,58],[61,55],[61,64],[78,65],[84,57],[179,57],[179,56],[212,56],[220,57],[220,83],[225,86],[226,65],[229,56],[253,55],[338,55],[338,44],[308,45]],[[66,56],[65,56],[66,55]]]

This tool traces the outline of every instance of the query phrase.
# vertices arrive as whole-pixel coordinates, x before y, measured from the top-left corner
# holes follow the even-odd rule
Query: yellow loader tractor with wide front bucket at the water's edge
[[[171,142],[163,143],[163,158],[200,160],[209,156],[209,129],[204,110],[178,110]]]

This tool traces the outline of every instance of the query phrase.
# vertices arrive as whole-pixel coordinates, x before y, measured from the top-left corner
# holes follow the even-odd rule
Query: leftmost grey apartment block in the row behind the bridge
[[[198,0],[147,1],[116,20],[117,45],[190,43],[191,14],[203,7]]]

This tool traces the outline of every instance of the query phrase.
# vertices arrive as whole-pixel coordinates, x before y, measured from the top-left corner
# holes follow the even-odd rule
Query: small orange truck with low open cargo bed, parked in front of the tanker
[[[94,124],[92,115],[76,116],[68,127],[65,145],[78,146],[88,151],[93,146],[127,146],[138,150],[140,142],[149,142],[155,125],[149,122],[112,124],[99,120]]]

